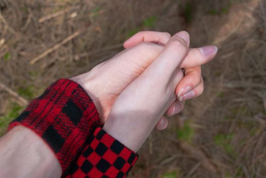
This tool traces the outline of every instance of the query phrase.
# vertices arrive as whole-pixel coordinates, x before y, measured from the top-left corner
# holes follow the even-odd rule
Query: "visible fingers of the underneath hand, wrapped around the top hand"
[[[140,42],[153,42],[156,44],[160,44],[165,46],[165,44],[171,38],[170,34],[168,33],[161,33],[161,32],[152,32],[152,31],[144,31],[139,32],[132,36],[124,43],[124,47],[130,48]],[[199,52],[201,54],[199,54]],[[187,58],[194,58],[194,60],[202,60],[202,56],[208,56],[209,59],[214,57],[217,53],[216,46],[204,46],[201,48],[191,49],[188,53]],[[195,58],[196,57],[196,58]],[[204,58],[204,57],[203,57]],[[191,64],[189,64],[191,65]],[[166,115],[172,116],[174,114],[179,113],[183,110],[185,106],[185,101],[191,98],[198,97],[202,94],[204,85],[203,79],[201,77],[201,66],[196,67],[187,67],[185,69],[185,76],[180,81],[178,86],[176,86],[176,96],[177,99],[171,104],[171,106],[167,109]],[[165,116],[162,116],[159,122],[156,125],[158,130],[163,130],[167,127],[168,121]]]

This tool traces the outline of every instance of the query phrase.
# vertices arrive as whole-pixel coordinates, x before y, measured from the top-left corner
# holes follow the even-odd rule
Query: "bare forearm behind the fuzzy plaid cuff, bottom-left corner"
[[[33,131],[17,126],[0,139],[0,177],[60,177],[62,168]]]

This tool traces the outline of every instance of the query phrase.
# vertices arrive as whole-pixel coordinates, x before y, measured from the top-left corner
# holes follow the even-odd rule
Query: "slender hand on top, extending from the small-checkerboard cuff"
[[[140,149],[176,100],[176,85],[183,78],[180,66],[189,52],[189,41],[184,31],[171,37],[155,61],[113,103],[103,129],[129,149]]]

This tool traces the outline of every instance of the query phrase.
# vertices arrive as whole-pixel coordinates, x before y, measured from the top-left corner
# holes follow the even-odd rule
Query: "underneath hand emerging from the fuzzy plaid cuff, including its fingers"
[[[102,124],[105,123],[115,99],[128,84],[155,60],[169,39],[170,35],[168,33],[140,32],[124,43],[126,50],[99,64],[90,72],[70,78],[79,83],[93,99]],[[203,55],[203,52],[208,50],[209,53]],[[183,92],[184,88],[187,87],[191,88],[192,98],[199,96],[203,92],[200,65],[212,60],[216,52],[217,48],[215,46],[189,49],[184,62],[179,66],[186,69],[186,76],[182,79],[180,85],[176,87],[177,98],[185,95]],[[184,108],[184,104],[184,100],[175,100],[169,106],[166,114],[171,116],[178,113]],[[167,120],[162,117],[157,128],[164,129],[166,126]]]

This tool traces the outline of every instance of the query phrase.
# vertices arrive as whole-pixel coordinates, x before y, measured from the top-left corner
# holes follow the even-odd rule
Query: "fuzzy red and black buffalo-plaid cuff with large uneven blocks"
[[[54,82],[10,124],[35,131],[51,147],[63,172],[76,160],[85,141],[99,126],[97,109],[77,83],[69,79]]]

